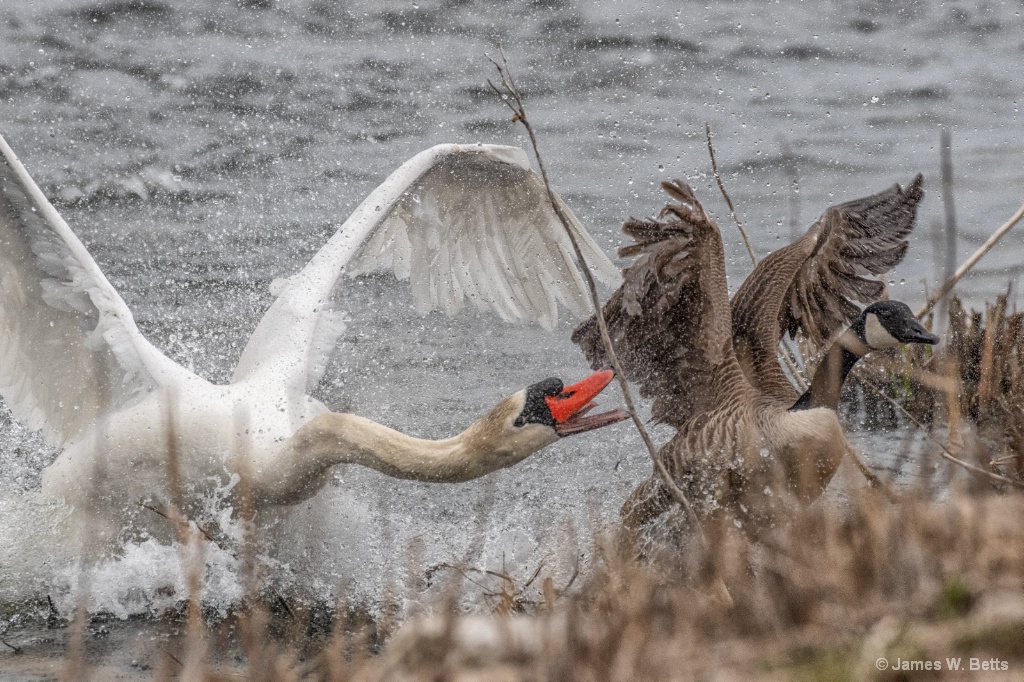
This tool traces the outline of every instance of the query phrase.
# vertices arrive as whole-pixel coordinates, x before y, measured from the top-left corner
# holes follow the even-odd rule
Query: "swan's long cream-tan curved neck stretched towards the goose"
[[[522,437],[504,430],[512,419],[508,415],[521,408],[521,398],[516,403],[515,397],[442,440],[414,438],[356,415],[319,415],[269,461],[252,466],[254,493],[274,504],[294,504],[314,495],[332,467],[346,463],[394,478],[432,482],[461,482],[512,466],[557,439],[553,429],[548,429],[550,436],[534,432]]]

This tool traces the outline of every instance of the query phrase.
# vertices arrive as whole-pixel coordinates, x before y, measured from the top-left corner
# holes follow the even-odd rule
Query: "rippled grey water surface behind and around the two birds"
[[[682,176],[723,227],[731,285],[741,281],[749,261],[709,172],[705,122],[759,255],[791,238],[795,210],[802,230],[831,203],[924,172],[918,232],[891,282],[912,305],[935,286],[941,127],[953,135],[961,259],[1024,201],[1022,10],[925,0],[5,3],[0,131],[142,332],[212,380],[228,378],[270,280],[301,267],[398,164],[444,141],[525,144],[486,85],[495,72],[483,55],[499,45],[556,188],[609,252],[623,219],[654,212],[657,183]],[[1010,235],[962,293],[980,302],[1016,282],[1022,247]],[[471,311],[420,317],[387,278],[350,291],[342,353],[317,393],[334,409],[440,437],[538,379],[586,371],[570,322],[547,333]],[[81,571],[40,540],[54,512],[27,502],[55,453],[3,415],[0,546],[13,549],[0,554],[0,601],[49,594],[70,607]],[[406,582],[412,546],[428,568],[466,560],[528,577],[545,561],[557,581],[648,471],[627,424],[460,485],[341,469],[267,524],[267,571],[289,594],[345,584],[373,601]],[[156,613],[174,601],[180,566],[165,549],[136,549],[100,567],[93,609]],[[222,586],[237,567],[222,559],[211,599],[233,594]],[[117,587],[95,589],[99,580]]]

